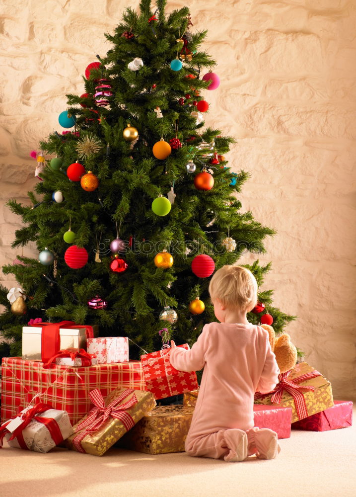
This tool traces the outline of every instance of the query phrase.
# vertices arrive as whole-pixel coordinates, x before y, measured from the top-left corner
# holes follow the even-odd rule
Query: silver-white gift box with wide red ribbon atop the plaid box
[[[22,359],[46,362],[60,349],[86,350],[86,339],[98,333],[98,326],[75,325],[71,321],[38,323],[22,328]]]

